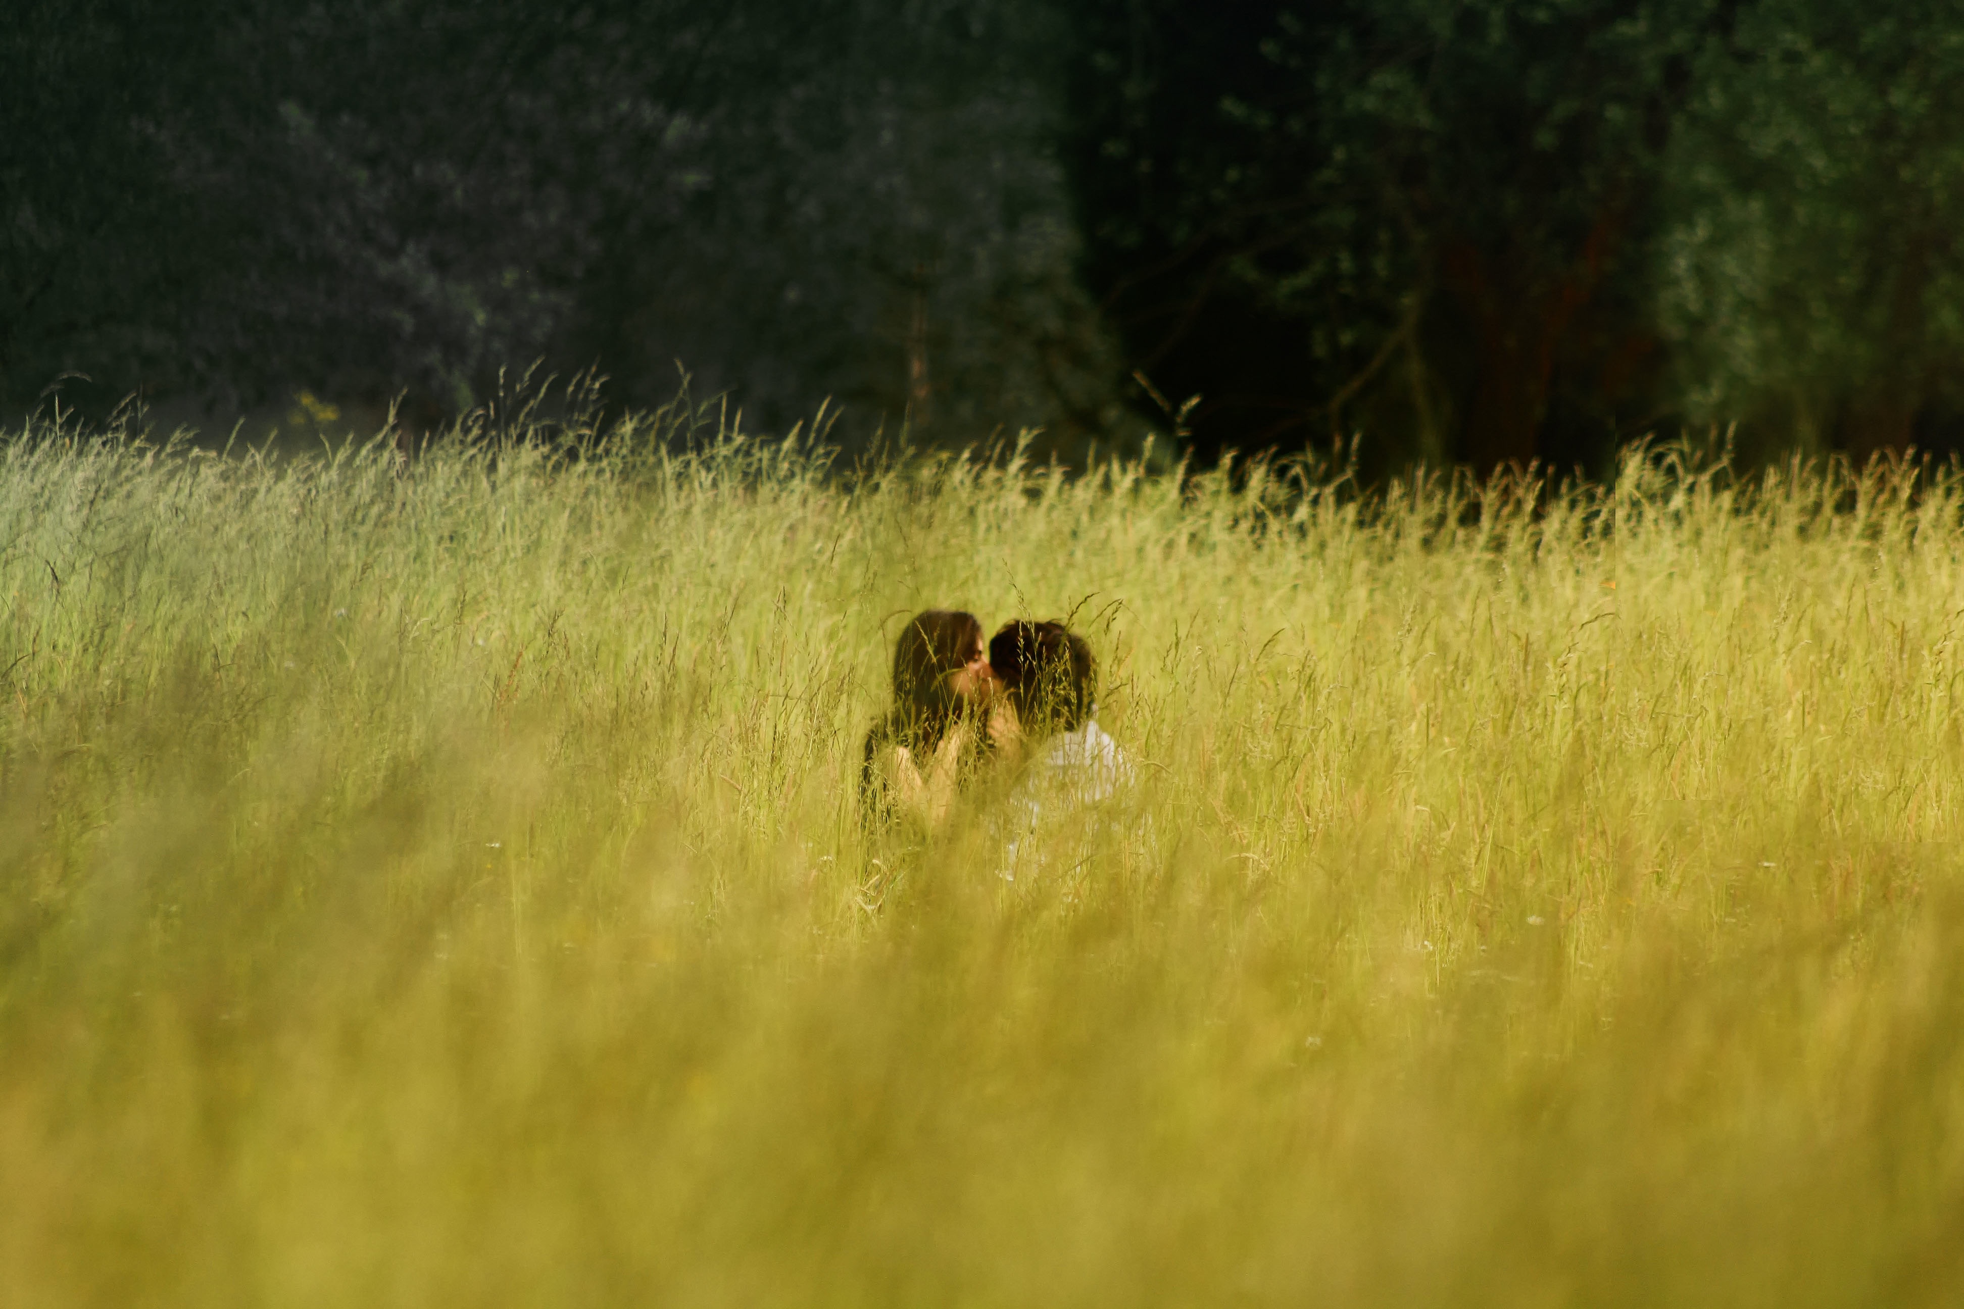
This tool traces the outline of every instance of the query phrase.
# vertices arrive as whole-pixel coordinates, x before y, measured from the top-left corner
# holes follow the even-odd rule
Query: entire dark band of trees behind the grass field
[[[846,444],[1964,447],[1958,2],[14,0],[0,59],[12,414],[544,359]]]

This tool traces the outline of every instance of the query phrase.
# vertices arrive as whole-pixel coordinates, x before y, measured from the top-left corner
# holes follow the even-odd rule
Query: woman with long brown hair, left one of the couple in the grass
[[[941,826],[990,748],[998,693],[974,614],[915,614],[894,644],[894,707],[866,732],[860,799],[868,822],[907,814]]]

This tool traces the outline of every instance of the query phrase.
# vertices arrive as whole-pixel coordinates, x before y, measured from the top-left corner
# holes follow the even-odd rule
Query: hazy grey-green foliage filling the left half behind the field
[[[1106,420],[1043,10],[145,0],[8,37],[0,377],[247,402],[682,361],[766,422]],[[153,75],[159,75],[153,77]],[[53,100],[49,100],[53,96]],[[986,430],[986,428],[984,428]]]

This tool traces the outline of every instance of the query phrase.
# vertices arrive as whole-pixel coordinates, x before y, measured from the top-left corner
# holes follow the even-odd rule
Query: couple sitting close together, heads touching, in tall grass
[[[1045,807],[1108,801],[1131,761],[1098,726],[1098,659],[1063,622],[1006,622],[982,644],[968,612],[915,614],[894,646],[894,705],[866,734],[870,824],[945,826],[962,799],[1008,795],[1008,838]]]

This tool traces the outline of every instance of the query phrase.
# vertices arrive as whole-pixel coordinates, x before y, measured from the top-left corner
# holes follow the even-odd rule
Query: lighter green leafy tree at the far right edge
[[[1760,445],[1954,445],[1964,14],[1766,0],[1697,86],[1660,241],[1687,412]]]

